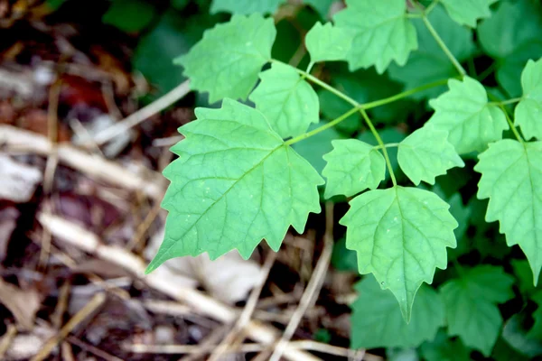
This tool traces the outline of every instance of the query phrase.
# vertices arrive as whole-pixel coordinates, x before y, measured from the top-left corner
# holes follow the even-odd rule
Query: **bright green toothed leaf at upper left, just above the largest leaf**
[[[192,89],[209,92],[210,103],[223,97],[246,99],[271,60],[275,36],[273,19],[233,15],[229,23],[204,32],[203,39],[174,62],[184,67]]]

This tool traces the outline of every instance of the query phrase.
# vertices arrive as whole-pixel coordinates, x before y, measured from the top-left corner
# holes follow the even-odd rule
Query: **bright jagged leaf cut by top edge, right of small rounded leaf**
[[[405,0],[347,0],[346,9],[335,14],[335,25],[354,33],[345,60],[350,70],[374,65],[383,73],[392,60],[403,65],[417,48],[416,28],[406,18]]]

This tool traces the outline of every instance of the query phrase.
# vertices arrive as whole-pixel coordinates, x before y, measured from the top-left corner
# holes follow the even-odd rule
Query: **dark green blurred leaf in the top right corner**
[[[519,97],[519,76],[529,59],[542,57],[542,5],[532,0],[501,1],[481,22],[481,47],[497,60],[497,80],[511,97]]]

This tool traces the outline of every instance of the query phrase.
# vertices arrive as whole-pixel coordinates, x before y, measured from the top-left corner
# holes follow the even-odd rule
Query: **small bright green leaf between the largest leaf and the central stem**
[[[327,162],[322,171],[327,178],[325,198],[339,194],[350,197],[368,188],[378,188],[386,176],[386,162],[375,147],[357,139],[337,140],[332,144],[332,152],[323,156]]]

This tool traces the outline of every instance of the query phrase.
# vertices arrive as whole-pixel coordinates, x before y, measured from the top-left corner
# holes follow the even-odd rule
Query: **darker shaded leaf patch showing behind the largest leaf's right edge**
[[[311,125],[309,131],[322,125],[325,125],[325,122],[320,122],[318,125]],[[323,154],[332,152],[332,141],[342,138],[344,138],[344,135],[337,132],[334,128],[328,128],[321,133],[304,139],[303,142],[294,143],[293,148],[295,152],[299,153],[304,159],[310,162],[318,173],[322,174],[323,167],[325,167]]]

